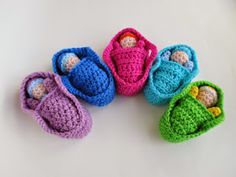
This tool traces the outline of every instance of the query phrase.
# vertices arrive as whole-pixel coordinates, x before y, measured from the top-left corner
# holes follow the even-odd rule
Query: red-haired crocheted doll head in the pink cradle
[[[137,36],[135,36],[133,33],[126,32],[121,35],[119,42],[122,48],[135,47],[137,44]]]

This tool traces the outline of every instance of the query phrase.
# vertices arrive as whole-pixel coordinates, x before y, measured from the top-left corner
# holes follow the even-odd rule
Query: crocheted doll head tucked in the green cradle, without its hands
[[[201,86],[199,88],[197,99],[207,108],[213,107],[218,101],[217,92],[210,86]]]

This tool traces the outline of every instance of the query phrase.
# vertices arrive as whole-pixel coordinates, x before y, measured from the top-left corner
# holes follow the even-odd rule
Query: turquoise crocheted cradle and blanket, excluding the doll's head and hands
[[[185,48],[188,51],[189,59],[193,62],[191,72],[177,62],[164,59],[167,51],[172,52],[178,48]],[[180,44],[164,48],[159,52],[150,70],[144,96],[151,104],[167,104],[173,96],[179,94],[191,82],[198,72],[197,57],[191,47]]]

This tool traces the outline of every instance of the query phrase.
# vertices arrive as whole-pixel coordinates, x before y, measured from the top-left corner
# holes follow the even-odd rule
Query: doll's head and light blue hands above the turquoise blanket
[[[188,51],[187,48],[178,48],[176,50],[173,50],[172,53],[170,51],[166,51],[162,55],[162,58],[179,63],[191,72],[193,70],[193,62],[190,60],[190,55],[191,52]]]

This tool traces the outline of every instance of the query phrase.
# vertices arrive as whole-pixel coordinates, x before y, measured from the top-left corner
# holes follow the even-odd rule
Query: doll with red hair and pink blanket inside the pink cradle
[[[144,74],[147,52],[145,43],[133,33],[126,32],[114,43],[113,60],[118,75],[128,83],[137,82]]]

